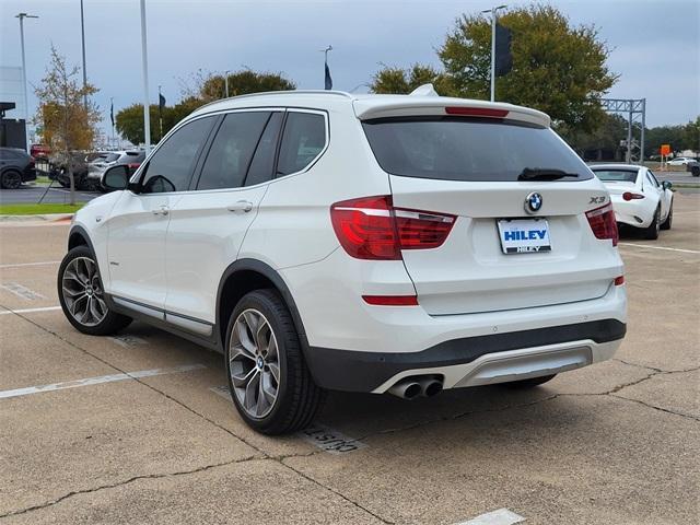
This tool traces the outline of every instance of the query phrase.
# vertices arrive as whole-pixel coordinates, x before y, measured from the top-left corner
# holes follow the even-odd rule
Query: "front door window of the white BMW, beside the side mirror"
[[[209,136],[215,117],[205,117],[186,124],[159,148],[145,166],[142,192],[184,191],[197,155]]]

